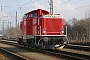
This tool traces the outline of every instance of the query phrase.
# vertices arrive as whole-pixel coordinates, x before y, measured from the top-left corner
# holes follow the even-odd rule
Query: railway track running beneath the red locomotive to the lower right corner
[[[5,42],[4,43],[8,43],[8,42]],[[17,43],[10,43],[10,45],[14,45],[14,46],[19,46],[21,47],[21,45],[17,45]],[[24,49],[27,49],[27,50],[30,50],[31,48],[27,48],[27,47],[22,47]],[[73,59],[73,60],[89,60],[90,59],[90,55],[84,55],[84,54],[78,54],[78,53],[72,53],[72,52],[68,52],[68,51],[63,51],[63,49],[61,50],[39,50],[39,49],[34,49],[32,48],[32,50],[34,52],[38,52],[38,53],[43,53],[43,54],[46,54],[46,55],[52,55],[52,56],[55,56],[55,57],[58,57],[58,58],[62,58],[62,59]]]

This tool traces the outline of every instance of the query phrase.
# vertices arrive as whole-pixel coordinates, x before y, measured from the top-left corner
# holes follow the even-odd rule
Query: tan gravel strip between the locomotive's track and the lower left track
[[[0,47],[10,50],[12,52],[15,52],[23,57],[29,58],[30,60],[62,60],[62,59],[56,58],[54,56],[48,56],[48,55],[34,52],[32,50],[17,48],[15,46],[6,45],[6,44],[2,44],[2,43],[0,43]]]

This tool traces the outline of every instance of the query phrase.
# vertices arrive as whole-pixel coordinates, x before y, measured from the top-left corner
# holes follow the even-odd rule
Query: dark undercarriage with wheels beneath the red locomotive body
[[[45,37],[37,36],[36,41],[35,38],[31,38],[26,40],[27,43],[25,43],[23,39],[20,39],[19,43],[21,44],[23,42],[22,45],[24,46],[39,48],[39,49],[57,49],[59,47],[67,45],[68,43],[66,37],[54,37],[54,38],[47,37],[48,38],[47,42],[44,40],[44,38]]]

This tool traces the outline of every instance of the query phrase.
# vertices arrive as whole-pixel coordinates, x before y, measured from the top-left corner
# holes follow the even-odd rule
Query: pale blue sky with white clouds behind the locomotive
[[[50,11],[50,0],[0,0],[0,23],[11,22],[15,26],[15,14],[18,14],[18,23],[22,16],[32,10],[41,8]],[[83,19],[90,10],[90,0],[53,0],[54,14],[61,14],[65,20]]]

